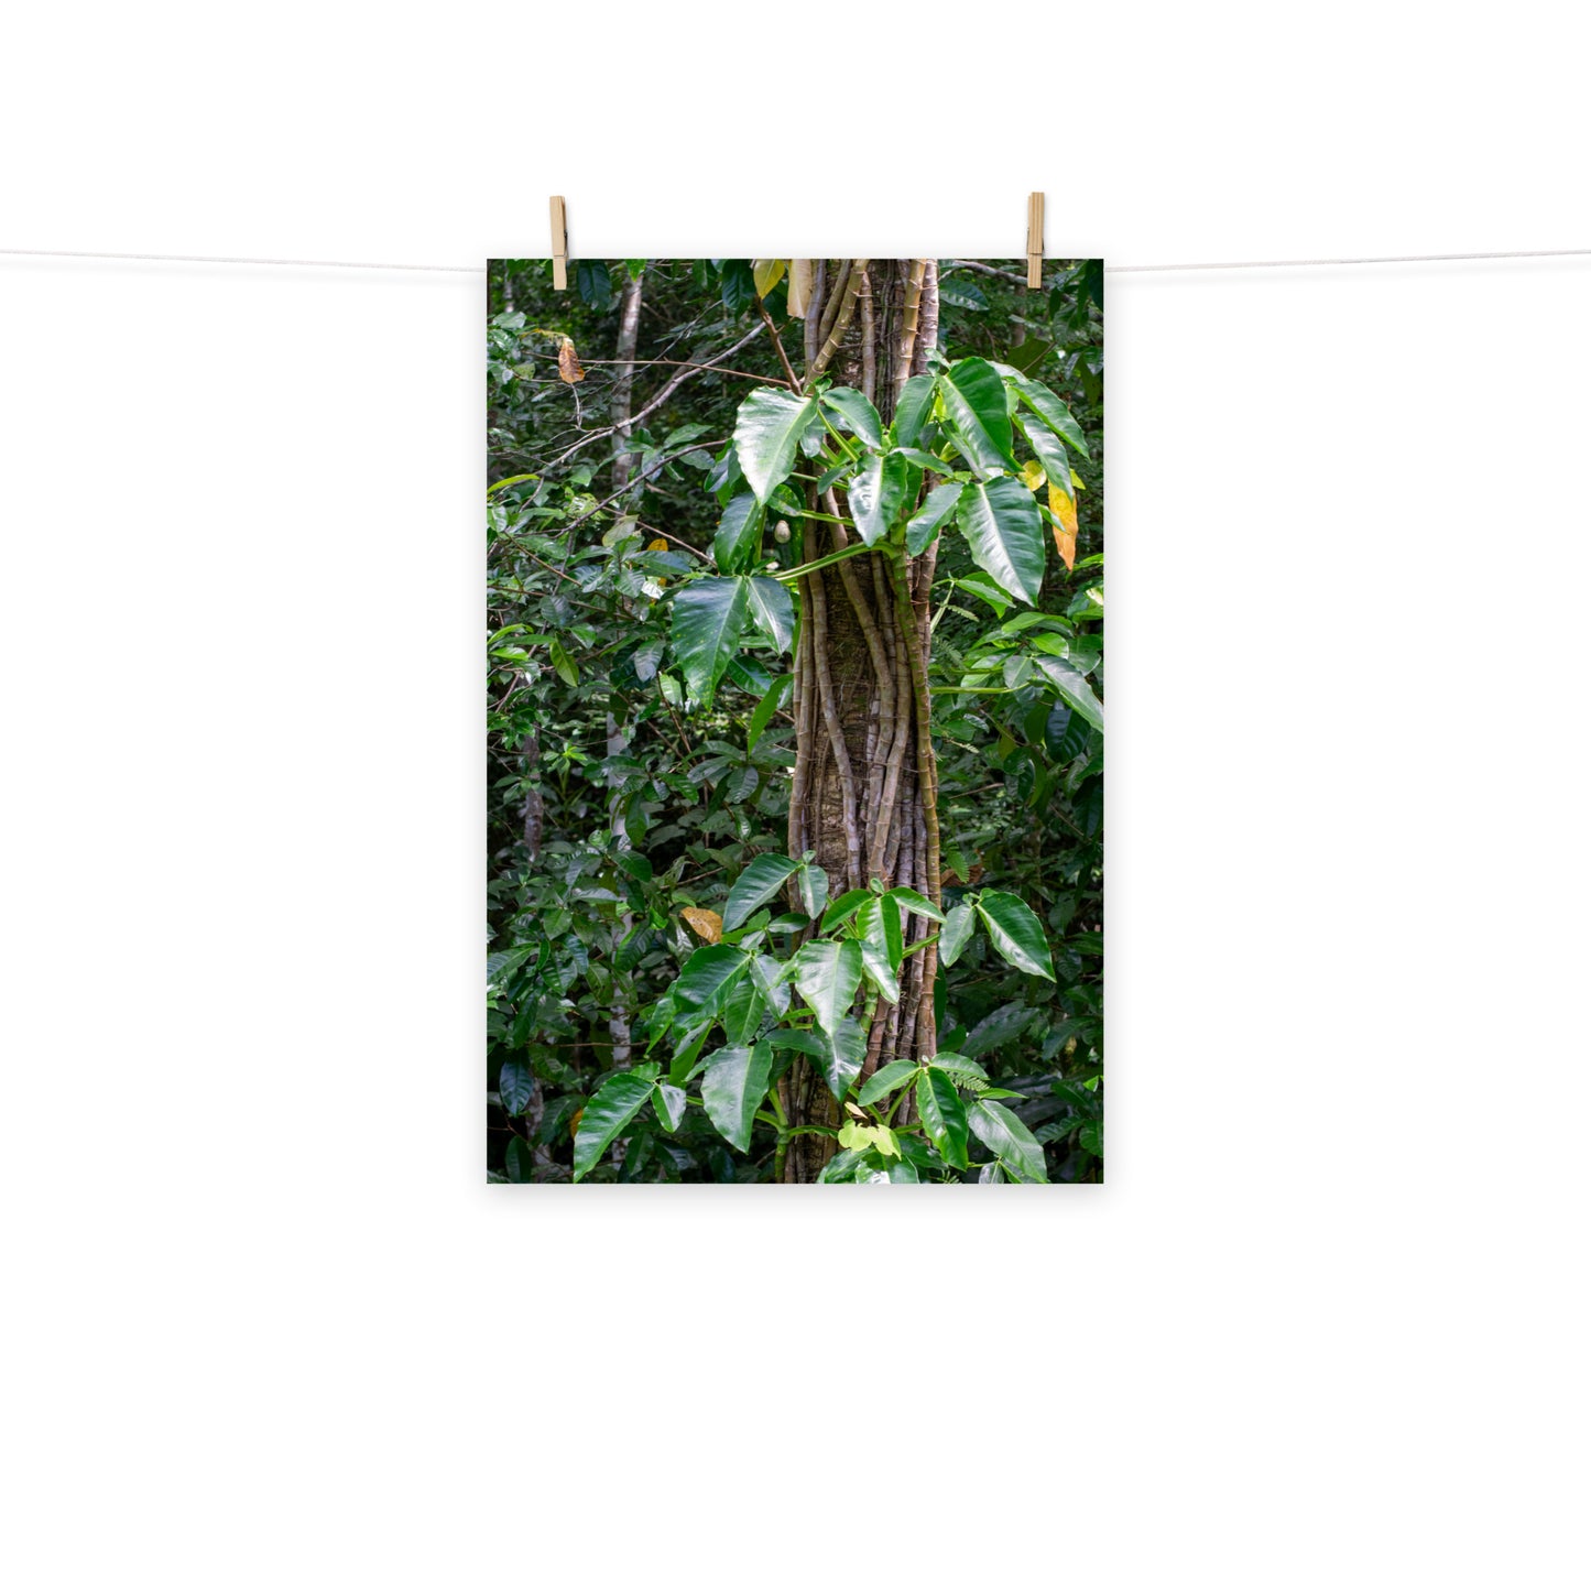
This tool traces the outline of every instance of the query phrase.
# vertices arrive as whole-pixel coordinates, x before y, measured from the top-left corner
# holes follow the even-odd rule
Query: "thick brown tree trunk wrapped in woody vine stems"
[[[907,377],[928,368],[939,333],[931,259],[821,261],[807,317],[807,379],[856,387],[888,423]],[[843,493],[824,512],[848,515]],[[848,541],[843,525],[803,520],[802,562]],[[934,549],[921,557],[862,554],[805,576],[796,655],[796,770],[789,854],[816,851],[831,899],[846,889],[904,885],[939,905],[939,818],[928,730],[929,605]],[[867,1028],[862,1077],[893,1060],[936,1052],[937,953],[912,947],[934,923],[904,915],[901,1002],[861,998]],[[794,1125],[835,1126],[840,1111],[823,1077],[797,1058],[780,1083]],[[910,1106],[907,1106],[910,1109]],[[827,1134],[789,1141],[786,1182],[811,1182],[834,1153]]]

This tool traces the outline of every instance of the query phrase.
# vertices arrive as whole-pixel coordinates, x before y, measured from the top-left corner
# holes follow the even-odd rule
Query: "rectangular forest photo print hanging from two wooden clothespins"
[[[498,259],[487,1176],[1104,1176],[1103,274]]]

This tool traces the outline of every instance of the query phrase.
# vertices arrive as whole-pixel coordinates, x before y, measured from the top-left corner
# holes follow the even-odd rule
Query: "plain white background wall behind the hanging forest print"
[[[1566,16],[35,6],[0,247],[1591,247]],[[1111,280],[1111,1181],[955,1198],[484,1185],[482,291],[0,259],[6,1578],[1585,1585],[1591,261]]]

